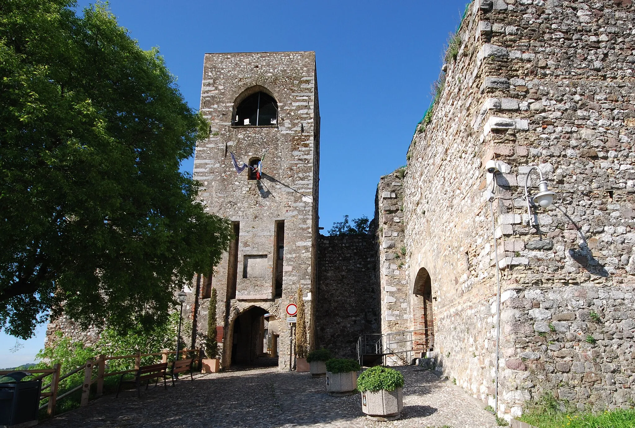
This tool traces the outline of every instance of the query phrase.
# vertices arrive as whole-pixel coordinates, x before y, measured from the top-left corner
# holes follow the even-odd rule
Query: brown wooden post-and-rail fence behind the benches
[[[182,358],[187,358],[188,352],[194,352],[194,355],[198,356],[200,350],[199,349],[184,349],[182,351],[178,351],[179,354],[183,354]],[[84,407],[88,406],[88,399],[90,398],[90,385],[97,382],[97,397],[100,397],[104,394],[104,379],[109,376],[121,375],[123,373],[133,373],[139,369],[141,366],[141,358],[142,357],[151,357],[151,356],[161,356],[161,363],[166,363],[168,361],[168,355],[176,354],[177,351],[168,351],[164,349],[163,352],[154,352],[152,354],[142,354],[141,351],[137,352],[137,354],[132,355],[122,355],[116,357],[107,357],[104,354],[98,356],[95,359],[89,359],[86,361],[86,364],[83,364],[77,367],[75,370],[71,370],[68,373],[64,373],[64,375],[60,374],[60,364],[53,364],[53,368],[44,368],[44,369],[34,369],[29,370],[25,369],[23,371],[28,371],[31,374],[38,375],[32,380],[41,380],[45,377],[51,376],[51,382],[46,385],[43,385],[42,391],[40,394],[40,401],[48,398],[48,402],[44,403],[40,406],[40,410],[46,408],[46,413],[48,413],[49,417],[53,417],[55,415],[55,405],[57,401],[69,396],[73,392],[79,391],[81,389],[81,401],[79,406]],[[135,368],[131,368],[130,370],[121,370],[121,371],[106,371],[106,361],[111,361],[114,359],[125,359],[125,358],[134,358],[135,359]],[[93,378],[93,368],[97,366],[97,377]],[[58,385],[60,384],[60,380],[64,380],[65,378],[78,373],[79,371],[84,370],[84,381],[81,385],[77,385],[73,389],[64,392],[64,394],[59,395]],[[6,375],[8,373],[13,373],[16,370],[0,370],[0,375]],[[48,391],[44,391],[48,389]]]

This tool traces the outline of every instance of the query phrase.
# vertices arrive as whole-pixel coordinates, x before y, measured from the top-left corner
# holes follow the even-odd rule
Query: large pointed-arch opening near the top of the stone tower
[[[255,85],[234,100],[232,126],[277,126],[278,105],[271,91]]]

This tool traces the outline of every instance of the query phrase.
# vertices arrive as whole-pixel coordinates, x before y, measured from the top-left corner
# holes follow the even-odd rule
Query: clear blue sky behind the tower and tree
[[[89,1],[79,1],[83,8]],[[140,46],[158,46],[185,100],[199,107],[203,53],[316,51],[321,115],[320,226],[375,211],[381,175],[406,163],[430,103],[443,45],[467,0],[110,0]],[[183,169],[192,171],[193,161]],[[44,329],[10,353],[0,332],[0,368],[32,361]]]

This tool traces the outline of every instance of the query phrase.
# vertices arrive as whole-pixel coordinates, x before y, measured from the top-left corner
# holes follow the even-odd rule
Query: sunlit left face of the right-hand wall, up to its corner
[[[432,283],[436,370],[474,397],[493,405],[495,395],[495,269],[490,264],[491,216],[483,200],[488,150],[472,123],[485,96],[482,15],[472,3],[458,31],[462,39],[455,61],[446,66],[445,86],[432,121],[417,133],[408,150],[403,182],[408,286],[413,302],[420,269]],[[403,292],[403,291],[402,291]],[[410,317],[415,308],[411,308]],[[413,326],[413,320],[410,321]]]

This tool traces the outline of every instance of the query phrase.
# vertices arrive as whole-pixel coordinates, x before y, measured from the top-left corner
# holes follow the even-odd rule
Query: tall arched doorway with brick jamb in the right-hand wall
[[[432,280],[425,267],[417,272],[413,288],[413,316],[415,349],[434,348],[434,316],[432,314]]]

